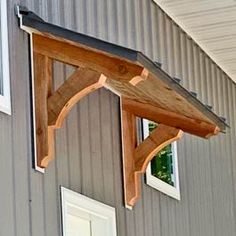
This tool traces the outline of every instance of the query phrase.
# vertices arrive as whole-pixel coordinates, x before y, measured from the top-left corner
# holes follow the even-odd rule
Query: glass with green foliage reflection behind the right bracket
[[[149,122],[149,132],[152,132],[157,124]],[[171,144],[163,148],[151,161],[151,173],[158,179],[174,186],[173,175],[173,153]]]

